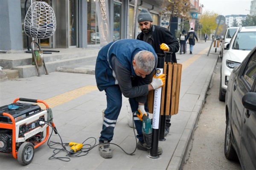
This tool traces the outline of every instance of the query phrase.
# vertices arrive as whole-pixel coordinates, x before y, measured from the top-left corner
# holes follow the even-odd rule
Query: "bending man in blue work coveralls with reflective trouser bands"
[[[153,77],[156,66],[157,54],[154,49],[140,40],[117,40],[99,51],[95,68],[96,83],[99,91],[104,90],[107,96],[107,108],[99,137],[99,152],[103,158],[112,158],[109,142],[113,139],[114,127],[122,107],[122,94],[129,99],[136,99],[136,102],[130,102],[131,110],[139,111],[138,117],[142,120],[142,116],[147,115],[144,105],[148,91],[165,84],[165,74]],[[153,79],[150,83],[151,77]],[[147,150],[142,122],[138,120],[134,123],[139,139],[137,149]],[[158,147],[157,154],[162,153],[162,148]]]

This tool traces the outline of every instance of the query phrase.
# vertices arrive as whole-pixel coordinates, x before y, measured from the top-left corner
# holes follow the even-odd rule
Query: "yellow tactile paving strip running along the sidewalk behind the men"
[[[189,65],[191,65],[193,62],[195,62],[197,59],[199,59],[203,54],[207,52],[209,48],[204,49],[203,51],[200,51],[198,54],[195,54],[190,59],[186,60],[182,63],[182,70],[185,70]],[[91,91],[97,90],[98,88],[96,86],[87,85],[78,89],[75,89],[73,91],[68,91],[64,94],[60,94],[58,96],[54,96],[52,98],[44,100],[44,102],[47,103],[49,108],[54,108],[55,106],[64,104],[66,102],[69,102],[73,99],[76,99],[84,94],[87,94]],[[42,109],[45,109],[45,105],[43,103],[37,103]]]

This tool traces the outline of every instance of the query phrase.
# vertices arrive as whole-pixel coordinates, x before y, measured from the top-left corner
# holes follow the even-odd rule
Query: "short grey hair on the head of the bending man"
[[[136,61],[136,66],[143,69],[146,73],[153,71],[156,62],[154,54],[146,50],[135,54],[134,60]]]

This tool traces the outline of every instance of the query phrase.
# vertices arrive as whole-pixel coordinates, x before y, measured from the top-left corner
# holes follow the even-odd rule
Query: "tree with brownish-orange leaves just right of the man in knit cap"
[[[173,17],[178,17],[183,20],[189,20],[190,14],[190,1],[189,0],[163,0],[163,13],[170,14],[169,26],[172,22]]]

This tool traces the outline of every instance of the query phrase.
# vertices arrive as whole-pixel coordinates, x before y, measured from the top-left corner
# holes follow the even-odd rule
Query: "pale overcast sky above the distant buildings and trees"
[[[219,15],[250,14],[250,2],[252,0],[199,0],[204,11],[213,11]]]

